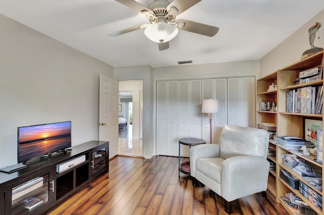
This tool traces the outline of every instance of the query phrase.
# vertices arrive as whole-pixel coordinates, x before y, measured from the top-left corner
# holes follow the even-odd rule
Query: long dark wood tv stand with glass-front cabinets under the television
[[[46,213],[100,174],[108,173],[109,142],[90,141],[71,149],[70,153],[52,153],[47,159],[34,157],[27,160],[28,166],[14,173],[0,172],[0,214]],[[82,162],[57,172],[57,165],[80,156],[85,157]]]

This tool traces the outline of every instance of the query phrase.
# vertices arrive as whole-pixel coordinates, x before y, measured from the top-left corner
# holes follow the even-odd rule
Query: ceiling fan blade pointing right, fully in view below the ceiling
[[[219,28],[211,25],[205,25],[198,22],[193,22],[185,19],[177,20],[178,29],[184,31],[190,31],[196,34],[202,34],[205,36],[214,36],[217,34]]]

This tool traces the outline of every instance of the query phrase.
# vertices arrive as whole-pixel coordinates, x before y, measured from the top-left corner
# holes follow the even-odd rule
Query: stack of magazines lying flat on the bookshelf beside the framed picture
[[[281,146],[282,148],[285,148],[287,150],[297,150],[304,145],[306,145],[307,148],[314,147],[312,142],[307,141],[300,137],[281,136],[281,137],[276,137],[275,140],[277,141],[277,144],[279,146]]]

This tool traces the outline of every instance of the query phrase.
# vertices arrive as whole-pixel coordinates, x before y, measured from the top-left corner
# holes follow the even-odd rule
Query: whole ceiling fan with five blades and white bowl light
[[[158,42],[158,49],[169,48],[169,41],[178,34],[178,29],[189,31],[205,36],[214,36],[219,28],[205,25],[189,20],[175,20],[176,16],[191,8],[201,0],[154,0],[149,6],[145,7],[135,0],[115,0],[141,14],[146,15],[149,24],[141,24],[124,30],[108,34],[108,36],[118,36],[137,29],[145,28],[144,34],[152,41]]]

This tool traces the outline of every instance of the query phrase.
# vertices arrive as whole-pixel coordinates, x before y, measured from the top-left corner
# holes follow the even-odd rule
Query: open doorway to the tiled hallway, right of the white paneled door
[[[142,156],[142,90],[142,80],[119,81],[118,155]]]

